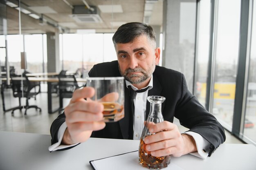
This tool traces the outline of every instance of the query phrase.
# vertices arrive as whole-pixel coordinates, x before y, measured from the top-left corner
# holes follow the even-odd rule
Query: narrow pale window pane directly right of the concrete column
[[[176,16],[175,16],[176,17]],[[194,70],[194,53],[195,53],[195,21],[196,21],[196,3],[193,0],[189,2],[180,1],[180,19],[179,28],[179,46],[174,49],[175,52],[173,56],[176,56],[173,66],[170,67],[174,70],[181,71],[185,77],[189,88],[189,91],[193,91],[193,70]],[[188,18],[190,18],[188,20]],[[176,37],[176,35],[174,36]],[[172,44],[173,45],[173,44]],[[177,52],[176,52],[177,51]]]

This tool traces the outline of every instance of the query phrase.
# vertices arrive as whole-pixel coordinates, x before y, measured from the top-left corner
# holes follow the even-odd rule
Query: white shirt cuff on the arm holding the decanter
[[[196,132],[187,131],[184,133],[187,135],[190,135],[194,138],[196,148],[198,150],[198,152],[193,152],[190,154],[194,155],[196,157],[200,157],[202,159],[206,159],[209,154],[208,148],[210,147],[211,143],[209,141],[207,141],[206,139],[204,139],[200,134],[198,134]]]

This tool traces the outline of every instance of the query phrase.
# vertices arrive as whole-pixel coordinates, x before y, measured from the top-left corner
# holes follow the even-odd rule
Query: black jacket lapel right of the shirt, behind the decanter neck
[[[161,92],[162,92],[162,85],[160,84],[157,76],[154,75],[153,76],[153,88],[148,91],[148,96],[159,96],[159,95],[161,95]],[[162,109],[163,108],[164,108],[164,105],[162,105]],[[146,119],[148,118],[149,111],[150,111],[150,103],[147,101],[147,104],[146,104]]]

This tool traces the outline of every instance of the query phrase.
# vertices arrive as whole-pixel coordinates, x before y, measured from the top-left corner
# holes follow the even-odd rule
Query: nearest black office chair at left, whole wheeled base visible
[[[21,80],[11,79],[11,87],[13,90],[13,97],[19,98],[19,106],[16,108],[13,108],[11,110],[11,115],[14,114],[14,110],[21,110],[22,108],[25,108],[25,115],[27,115],[27,109],[29,108],[36,108],[40,112],[42,111],[41,108],[39,108],[36,105],[29,105],[29,99],[31,97],[35,97],[40,93],[40,82],[31,82],[29,81],[28,77],[25,76],[25,80],[23,81],[23,88],[22,88],[22,82]],[[23,91],[23,94],[22,94]],[[26,106],[21,106],[20,99],[22,97],[26,97]]]

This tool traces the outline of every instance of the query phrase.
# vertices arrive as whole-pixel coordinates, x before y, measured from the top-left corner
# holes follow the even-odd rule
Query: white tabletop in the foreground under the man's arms
[[[0,170],[92,170],[89,161],[138,150],[139,141],[90,138],[70,150],[49,152],[49,135],[0,132]],[[256,170],[256,147],[222,144],[211,157],[172,157],[184,170]],[[145,168],[147,170],[147,168]]]

